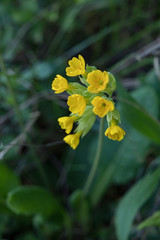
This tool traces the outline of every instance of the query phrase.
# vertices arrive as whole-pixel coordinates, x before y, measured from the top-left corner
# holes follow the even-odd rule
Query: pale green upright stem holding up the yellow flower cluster
[[[98,138],[98,147],[97,147],[96,156],[93,161],[93,165],[92,165],[91,171],[89,173],[89,176],[87,178],[86,184],[84,186],[84,194],[85,195],[87,195],[89,192],[89,189],[92,185],[92,182],[93,182],[93,179],[94,179],[97,167],[98,167],[98,163],[100,160],[102,145],[103,145],[103,136],[104,136],[104,123],[105,123],[105,118],[103,117],[101,119],[100,127],[99,127],[99,138]]]

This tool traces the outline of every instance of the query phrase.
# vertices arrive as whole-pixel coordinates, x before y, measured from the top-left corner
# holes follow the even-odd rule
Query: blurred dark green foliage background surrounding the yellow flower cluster
[[[160,207],[159,29],[157,0],[0,1],[0,239],[159,240],[159,213],[137,228]],[[104,139],[87,198],[99,119],[70,149],[51,90],[78,54],[120,80],[126,131]]]

